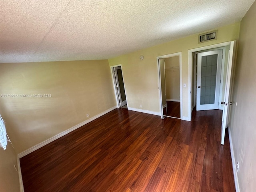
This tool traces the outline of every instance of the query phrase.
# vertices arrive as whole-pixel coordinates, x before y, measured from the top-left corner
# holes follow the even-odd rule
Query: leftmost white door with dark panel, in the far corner
[[[120,103],[120,107],[127,104],[126,95],[124,90],[124,80],[122,75],[122,69],[120,66],[114,68],[114,78],[116,80],[116,90],[118,95],[118,102]]]

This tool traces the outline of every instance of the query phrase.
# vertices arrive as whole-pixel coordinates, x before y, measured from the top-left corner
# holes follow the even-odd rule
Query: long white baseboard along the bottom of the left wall
[[[80,124],[77,124],[77,125],[73,126],[72,128],[69,128],[68,130],[65,130],[65,131],[63,131],[63,132],[61,132],[61,133],[59,133],[59,134],[57,134],[57,135],[55,135],[55,136],[53,136],[51,138],[49,138],[49,139],[39,143],[39,144],[36,144],[35,146],[33,146],[33,147],[31,147],[31,148],[29,148],[29,149],[19,153],[18,154],[18,158],[22,158],[22,157],[26,156],[27,154],[30,154],[31,152],[41,148],[42,146],[45,146],[45,145],[49,144],[50,142],[53,142],[54,140],[56,140],[56,139],[58,139],[58,138],[60,138],[60,137],[62,137],[64,135],[66,135],[66,134],[68,134],[68,133],[70,133],[70,132],[72,132],[74,130],[76,130],[77,128],[80,128],[81,126],[83,126],[83,125],[85,125],[85,124],[95,120],[96,118],[99,118],[100,116],[102,116],[102,115],[104,115],[104,114],[106,114],[106,113],[108,113],[108,112],[110,112],[110,111],[112,111],[114,109],[116,109],[116,106],[114,106],[114,107],[112,107],[112,108],[110,108],[110,109],[108,109],[108,110],[106,110],[106,111],[104,111],[104,112],[102,112],[102,113],[100,113],[100,114],[98,114],[98,115],[88,119],[88,120],[85,120],[84,122],[82,122]]]

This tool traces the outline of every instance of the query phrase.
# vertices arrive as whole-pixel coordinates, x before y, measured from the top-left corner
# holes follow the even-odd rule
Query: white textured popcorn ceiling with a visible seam
[[[0,0],[0,62],[108,59],[240,22],[254,0]]]

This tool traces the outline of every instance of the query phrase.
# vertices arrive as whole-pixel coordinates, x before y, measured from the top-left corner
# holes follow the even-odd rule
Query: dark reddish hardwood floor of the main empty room
[[[20,159],[25,192],[234,192],[221,110],[192,121],[115,109]]]

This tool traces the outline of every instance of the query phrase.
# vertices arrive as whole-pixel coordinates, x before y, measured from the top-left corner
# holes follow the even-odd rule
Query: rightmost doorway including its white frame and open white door
[[[188,110],[189,110],[189,117],[188,120],[191,120],[191,113],[193,108],[196,106],[196,109],[198,109],[197,105],[201,105],[202,103],[205,104],[206,102],[206,84],[211,88],[211,86],[214,86],[213,82],[211,81],[212,79],[215,80],[215,72],[213,72],[213,68],[216,69],[216,76],[219,70],[219,78],[220,80],[217,80],[216,77],[216,84],[215,84],[215,92],[214,89],[211,90],[208,88],[208,93],[207,96],[207,104],[213,104],[215,103],[215,109],[216,106],[218,106],[217,109],[222,110],[222,125],[221,125],[221,144],[224,144],[224,138],[225,138],[225,132],[226,128],[228,128],[228,120],[229,120],[229,110],[230,110],[230,105],[232,104],[232,79],[233,79],[233,70],[234,70],[234,60],[235,60],[235,49],[236,49],[236,41],[231,41],[231,42],[225,42],[225,43],[220,43],[212,46],[206,46],[202,48],[196,48],[193,50],[188,50],[188,67],[189,67],[189,85],[190,85],[190,97],[189,97],[189,102],[188,102]],[[215,54],[215,59],[218,60],[220,59],[219,55],[220,53],[217,52],[211,52],[212,50],[222,50],[222,66],[218,68],[215,66],[216,64],[208,63],[207,61],[204,65],[202,66],[202,63],[199,64],[198,66],[198,60],[200,59],[201,62],[203,60],[202,56],[206,56],[204,59],[207,60],[207,56],[213,56]],[[208,52],[208,53],[207,53]],[[203,53],[203,54],[201,54]],[[210,54],[209,54],[210,53]],[[205,54],[205,55],[204,55]],[[217,56],[216,56],[217,55]],[[212,58],[210,59],[212,61]],[[201,75],[202,67],[208,67],[208,75]],[[199,70],[198,70],[199,68]],[[211,70],[210,70],[211,68]],[[206,69],[207,70],[207,69]],[[198,72],[199,71],[199,72]],[[200,74],[201,73],[201,74]],[[207,71],[206,71],[207,73]],[[208,78],[208,81],[206,80]],[[211,80],[210,80],[211,79]],[[202,80],[204,81],[204,90],[202,91],[200,88],[202,84]],[[217,88],[217,85],[219,88]],[[200,86],[198,88],[198,86]],[[211,92],[212,91],[212,92]],[[216,92],[219,92],[219,94],[216,96]],[[202,93],[204,94],[202,96]],[[210,99],[210,96],[215,95],[214,99],[212,98],[212,102]],[[217,98],[216,98],[217,97]],[[203,98],[204,102],[201,102],[200,99]],[[198,101],[199,100],[199,101]],[[217,102],[218,100],[218,102]],[[203,110],[210,110],[211,108],[206,108]]]

